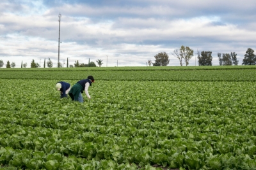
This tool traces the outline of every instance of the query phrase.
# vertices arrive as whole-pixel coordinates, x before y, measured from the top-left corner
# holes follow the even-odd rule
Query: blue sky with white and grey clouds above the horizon
[[[211,51],[214,66],[217,53],[236,52],[241,65],[246,50],[256,50],[255,9],[255,0],[1,0],[0,60],[30,67],[34,59],[43,67],[50,58],[56,67],[61,14],[65,67],[67,58],[146,66],[159,52],[168,53],[168,66],[179,66],[172,52],[182,45]]]

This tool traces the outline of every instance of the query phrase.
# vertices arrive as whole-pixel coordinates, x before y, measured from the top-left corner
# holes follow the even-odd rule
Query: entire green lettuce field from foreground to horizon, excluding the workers
[[[256,67],[183,68],[0,69],[0,169],[256,169]]]

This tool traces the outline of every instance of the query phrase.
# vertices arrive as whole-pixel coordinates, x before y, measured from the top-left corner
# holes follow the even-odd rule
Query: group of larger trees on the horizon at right
[[[194,55],[194,50],[189,48],[189,46],[182,45],[180,48],[173,50],[172,55],[179,59],[180,66],[183,66],[184,64],[188,66],[189,60]],[[198,66],[212,66],[212,52],[197,51],[196,55],[198,59]],[[148,60],[146,62],[147,66],[167,66],[170,62],[169,56],[166,52],[160,52],[154,57],[155,62]],[[218,59],[220,66],[237,66],[239,63],[236,52],[218,53]],[[248,48],[246,50],[242,65],[256,65],[256,55],[254,54],[254,50],[252,48]]]

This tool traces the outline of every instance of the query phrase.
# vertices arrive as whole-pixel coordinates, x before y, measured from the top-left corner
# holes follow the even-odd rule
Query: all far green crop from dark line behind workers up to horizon
[[[222,67],[223,69],[221,69]],[[148,69],[133,68],[134,70],[132,70],[131,67],[130,70],[127,69],[127,67],[120,67],[119,69],[114,67],[77,67],[72,69],[1,69],[0,78],[38,79],[38,74],[40,74],[40,79],[44,80],[81,80],[84,78],[84,71],[86,71],[86,73],[97,77],[97,80],[256,81],[255,66],[179,67],[188,69],[176,69],[177,67],[162,67],[163,69],[159,69],[161,67],[142,68]]]

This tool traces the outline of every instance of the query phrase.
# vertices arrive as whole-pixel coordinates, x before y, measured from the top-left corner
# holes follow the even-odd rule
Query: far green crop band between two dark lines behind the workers
[[[1,71],[1,79],[81,80],[93,75],[95,80],[129,81],[256,81],[255,69],[188,71]]]

